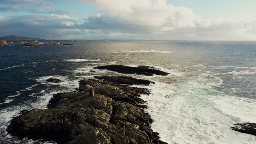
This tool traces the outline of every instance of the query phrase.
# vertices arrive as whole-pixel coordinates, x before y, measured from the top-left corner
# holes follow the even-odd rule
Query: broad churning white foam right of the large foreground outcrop
[[[161,140],[169,144],[253,144],[255,136],[230,127],[236,122],[255,122],[254,114],[248,118],[255,109],[255,100],[238,98],[236,101],[224,96],[214,89],[223,81],[210,72],[203,73],[173,84],[148,77],[155,84],[137,86],[151,90],[152,94],[142,98],[149,106],[146,112],[154,120],[152,129],[160,132]]]

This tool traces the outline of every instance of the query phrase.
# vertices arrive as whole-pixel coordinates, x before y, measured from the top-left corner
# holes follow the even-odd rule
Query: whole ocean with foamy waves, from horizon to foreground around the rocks
[[[0,47],[0,143],[19,140],[6,128],[22,110],[45,109],[52,94],[70,92],[94,76],[126,75],[154,81],[147,101],[152,129],[169,144],[255,144],[256,136],[230,130],[256,123],[255,41],[109,41]],[[168,76],[119,74],[102,65],[154,66]],[[90,72],[91,70],[96,73]],[[53,84],[48,78],[64,82]]]

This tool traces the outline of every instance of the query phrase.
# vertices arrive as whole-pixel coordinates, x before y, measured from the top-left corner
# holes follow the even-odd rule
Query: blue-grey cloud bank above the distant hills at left
[[[61,38],[67,35],[84,34],[77,28],[80,20],[66,15],[0,17],[1,34],[40,38]]]

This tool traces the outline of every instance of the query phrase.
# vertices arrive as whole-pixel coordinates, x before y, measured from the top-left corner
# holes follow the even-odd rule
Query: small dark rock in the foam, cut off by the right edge
[[[254,123],[245,123],[245,124],[234,124],[234,127],[231,127],[231,130],[236,130],[238,132],[252,134],[256,136],[256,124]]]

